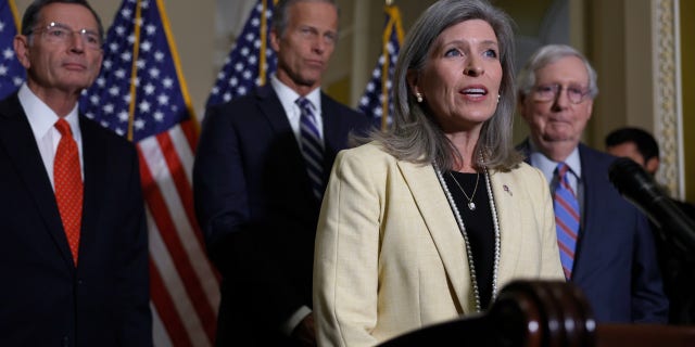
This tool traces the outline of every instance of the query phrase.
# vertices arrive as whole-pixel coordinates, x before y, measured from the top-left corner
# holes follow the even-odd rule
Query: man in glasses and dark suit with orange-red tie
[[[84,0],[37,0],[0,102],[1,346],[151,346],[148,242],[132,144],[78,115],[103,28]]]

